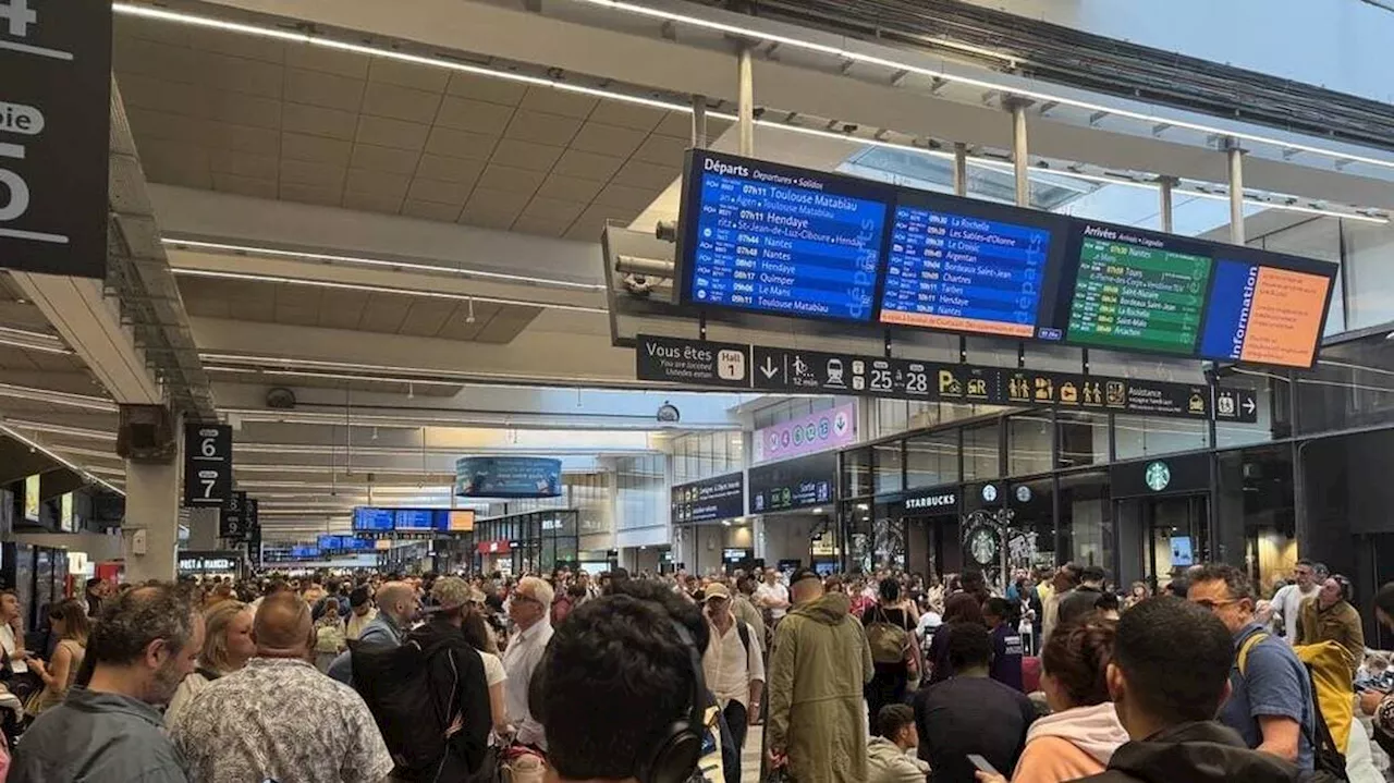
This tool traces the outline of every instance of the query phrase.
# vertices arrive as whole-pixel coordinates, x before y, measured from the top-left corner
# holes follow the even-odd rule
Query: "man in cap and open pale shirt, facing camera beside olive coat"
[[[760,718],[760,695],[765,690],[760,633],[736,619],[730,588],[722,582],[707,585],[703,614],[711,626],[711,644],[701,659],[703,676],[726,715],[739,754],[746,745],[746,727]]]

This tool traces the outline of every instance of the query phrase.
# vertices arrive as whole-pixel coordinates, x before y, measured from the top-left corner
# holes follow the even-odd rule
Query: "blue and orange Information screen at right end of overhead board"
[[[1278,366],[1310,366],[1322,336],[1331,277],[1221,258],[1200,355]]]

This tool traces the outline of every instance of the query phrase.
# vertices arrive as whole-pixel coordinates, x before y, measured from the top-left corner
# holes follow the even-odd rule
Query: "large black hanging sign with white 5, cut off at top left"
[[[0,266],[106,276],[112,3],[0,1]]]

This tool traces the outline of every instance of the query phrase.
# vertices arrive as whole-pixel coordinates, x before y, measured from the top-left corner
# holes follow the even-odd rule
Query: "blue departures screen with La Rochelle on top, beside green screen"
[[[1033,337],[1051,233],[899,205],[881,323]]]

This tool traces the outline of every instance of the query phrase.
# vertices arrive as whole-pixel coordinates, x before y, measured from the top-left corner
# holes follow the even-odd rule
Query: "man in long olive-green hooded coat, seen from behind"
[[[813,568],[795,571],[789,592],[795,607],[769,652],[769,763],[795,780],[866,780],[871,645],[848,595],[824,594]]]

